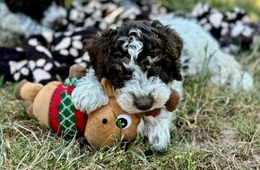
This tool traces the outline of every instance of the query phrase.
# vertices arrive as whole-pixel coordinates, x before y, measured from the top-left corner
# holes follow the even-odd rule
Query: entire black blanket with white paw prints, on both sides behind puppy
[[[4,81],[64,81],[72,64],[87,66],[89,62],[83,49],[85,38],[127,20],[150,20],[166,13],[166,8],[157,5],[124,8],[110,1],[74,1],[66,24],[56,33],[31,35],[22,48],[0,47],[0,75]],[[228,51],[247,49],[260,35],[260,24],[248,22],[247,13],[239,9],[220,13],[208,4],[198,4],[186,17],[197,19]]]

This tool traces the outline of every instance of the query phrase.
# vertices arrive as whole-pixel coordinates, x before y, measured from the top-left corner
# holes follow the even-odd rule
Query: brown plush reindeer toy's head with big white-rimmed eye
[[[130,115],[122,110],[117,104],[112,85],[107,79],[102,79],[101,84],[108,95],[109,102],[107,106],[102,106],[88,115],[86,139],[95,148],[100,148],[104,144],[113,146],[117,137],[127,141],[134,140],[140,122],[139,116]]]

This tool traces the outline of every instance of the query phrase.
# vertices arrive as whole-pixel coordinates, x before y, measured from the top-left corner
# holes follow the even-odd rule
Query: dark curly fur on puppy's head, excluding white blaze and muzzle
[[[147,72],[148,77],[159,76],[165,83],[180,81],[182,39],[160,21],[127,21],[116,30],[104,30],[88,39],[85,47],[97,77],[108,78],[116,88],[121,88],[125,81],[131,79],[132,71],[123,64],[130,56],[122,48],[124,42],[118,38],[127,37],[129,30],[134,28],[141,30],[138,39],[143,42],[143,51],[138,55],[136,64]],[[149,65],[148,56],[157,56],[158,60]]]

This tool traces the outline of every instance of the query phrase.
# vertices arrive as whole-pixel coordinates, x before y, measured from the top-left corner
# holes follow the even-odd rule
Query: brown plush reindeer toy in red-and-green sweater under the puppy
[[[137,115],[129,115],[117,105],[112,86],[107,79],[101,80],[109,98],[107,106],[101,106],[90,114],[75,109],[71,102],[73,84],[84,73],[81,66],[72,66],[70,85],[53,81],[43,86],[21,81],[15,96],[24,100],[26,113],[31,118],[67,138],[84,136],[95,149],[114,146],[118,137],[119,140],[134,140],[140,118]]]

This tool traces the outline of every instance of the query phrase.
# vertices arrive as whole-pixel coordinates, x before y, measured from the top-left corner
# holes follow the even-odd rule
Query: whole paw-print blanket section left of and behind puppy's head
[[[23,48],[0,47],[0,74],[4,81],[64,81],[72,64],[87,66],[89,62],[83,39],[129,19],[149,20],[149,15],[157,12],[160,11],[152,7],[124,9],[111,2],[75,1],[68,9],[67,24],[60,31],[32,35]]]

